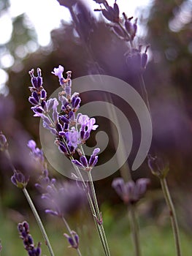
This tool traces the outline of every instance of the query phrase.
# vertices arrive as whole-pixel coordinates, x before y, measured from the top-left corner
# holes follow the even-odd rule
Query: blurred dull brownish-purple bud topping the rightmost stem
[[[150,154],[147,157],[147,163],[151,173],[158,178],[166,178],[167,173],[169,173],[169,164],[164,162],[160,157],[152,157]]]

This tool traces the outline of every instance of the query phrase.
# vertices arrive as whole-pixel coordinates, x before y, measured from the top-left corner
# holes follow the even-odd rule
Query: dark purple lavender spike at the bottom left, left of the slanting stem
[[[38,243],[37,247],[34,246],[32,236],[29,234],[28,222],[22,222],[18,224],[18,232],[20,238],[23,240],[24,248],[27,250],[29,256],[40,256],[41,255],[41,244]]]

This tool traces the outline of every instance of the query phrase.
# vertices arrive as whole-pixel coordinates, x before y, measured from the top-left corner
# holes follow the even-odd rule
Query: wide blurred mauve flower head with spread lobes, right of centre
[[[150,183],[148,178],[139,178],[136,182],[124,182],[123,178],[115,178],[112,187],[118,193],[124,203],[134,204],[145,194],[147,185]]]

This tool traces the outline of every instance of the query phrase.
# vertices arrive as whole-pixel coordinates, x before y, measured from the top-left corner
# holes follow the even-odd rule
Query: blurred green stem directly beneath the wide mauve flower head
[[[128,210],[130,211],[130,217],[131,217],[131,230],[132,230],[132,237],[134,241],[134,252],[135,256],[141,255],[141,249],[140,249],[140,243],[139,243],[139,225],[137,222],[137,217],[135,214],[135,206],[130,205]]]

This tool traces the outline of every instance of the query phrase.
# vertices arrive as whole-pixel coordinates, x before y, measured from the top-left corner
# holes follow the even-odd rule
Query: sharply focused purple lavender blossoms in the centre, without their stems
[[[72,72],[66,72],[67,78],[63,76],[64,67],[61,65],[53,69],[53,75],[58,76],[59,83],[63,91],[59,92],[58,100],[56,98],[46,99],[47,93],[42,86],[41,71],[37,69],[37,77],[34,76],[34,69],[31,69],[31,97],[28,101],[33,105],[31,110],[34,111],[34,116],[39,116],[43,120],[43,127],[49,129],[55,135],[55,144],[61,153],[66,157],[72,159],[72,156],[77,152],[80,157],[82,153],[79,146],[85,143],[90,138],[91,131],[96,130],[98,125],[95,118],[89,118],[87,115],[78,113],[80,108],[80,94],[74,92],[72,94]],[[61,102],[61,110],[58,112],[58,105]],[[31,145],[33,147],[33,145]],[[91,170],[96,165],[98,157],[96,156],[99,150],[94,151],[88,165],[81,162],[74,161],[74,164],[84,168],[84,170]],[[84,159],[86,157],[84,156]],[[87,161],[87,160],[85,160]],[[88,161],[87,161],[88,162]],[[89,167],[89,168],[87,168]]]

